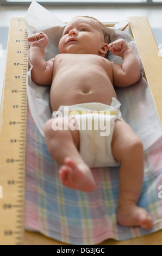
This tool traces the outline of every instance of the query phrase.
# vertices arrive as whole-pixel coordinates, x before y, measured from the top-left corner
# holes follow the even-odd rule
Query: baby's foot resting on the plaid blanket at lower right
[[[152,228],[152,218],[145,209],[133,204],[122,205],[117,210],[117,221],[119,224],[130,227],[136,226],[145,229]]]

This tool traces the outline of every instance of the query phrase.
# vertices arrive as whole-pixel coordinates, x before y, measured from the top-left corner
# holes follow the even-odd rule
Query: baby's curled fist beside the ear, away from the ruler
[[[112,52],[116,56],[122,56],[122,53],[129,49],[129,46],[127,45],[126,41],[123,39],[116,40],[114,42],[111,42],[108,45],[109,51]]]

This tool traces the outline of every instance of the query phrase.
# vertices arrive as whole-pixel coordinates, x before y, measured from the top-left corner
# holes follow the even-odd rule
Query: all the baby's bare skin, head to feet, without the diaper
[[[106,44],[101,25],[87,17],[77,17],[67,24],[59,42],[60,54],[48,62],[45,61],[47,36],[40,32],[29,36],[28,41],[32,79],[51,86],[52,111],[61,105],[85,102],[110,105],[112,97],[116,97],[114,86],[130,86],[140,78],[138,59],[127,43],[120,39]],[[108,49],[122,57],[122,65],[104,58]],[[68,127],[72,120],[62,121]],[[52,122],[50,119],[45,125],[45,139],[49,153],[61,165],[63,184],[84,192],[93,191],[94,176],[79,154],[79,131],[53,131]],[[124,226],[151,229],[151,216],[136,205],[144,176],[142,143],[128,124],[117,120],[111,148],[114,158],[121,163],[117,221]]]

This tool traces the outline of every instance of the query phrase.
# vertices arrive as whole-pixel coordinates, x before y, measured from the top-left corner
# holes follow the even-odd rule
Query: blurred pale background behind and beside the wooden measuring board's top
[[[10,17],[24,17],[30,0],[0,0],[0,102]],[[162,1],[160,0],[48,0],[36,1],[64,22],[77,15],[93,16],[102,22],[116,23],[128,16],[147,16],[155,40],[162,48]],[[151,51],[151,49],[150,49]]]

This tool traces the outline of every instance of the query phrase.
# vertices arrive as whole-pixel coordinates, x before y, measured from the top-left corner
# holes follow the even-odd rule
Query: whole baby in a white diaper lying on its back
[[[45,61],[48,38],[43,32],[29,36],[28,42],[32,80],[51,86],[53,118],[45,125],[45,139],[49,153],[60,164],[63,184],[93,191],[95,180],[90,168],[121,164],[117,221],[124,226],[151,229],[151,216],[137,206],[144,178],[142,143],[123,121],[114,90],[114,86],[130,86],[140,79],[140,65],[133,50],[123,39],[109,44],[107,28],[86,16],[67,23],[59,41],[60,54],[54,59]],[[122,57],[123,64],[105,58],[108,51]],[[65,106],[72,110],[69,116],[64,115]],[[83,114],[76,111],[80,108]],[[92,124],[103,120],[105,127],[109,126],[109,135],[101,136],[99,128],[81,129],[83,119],[89,118]]]

